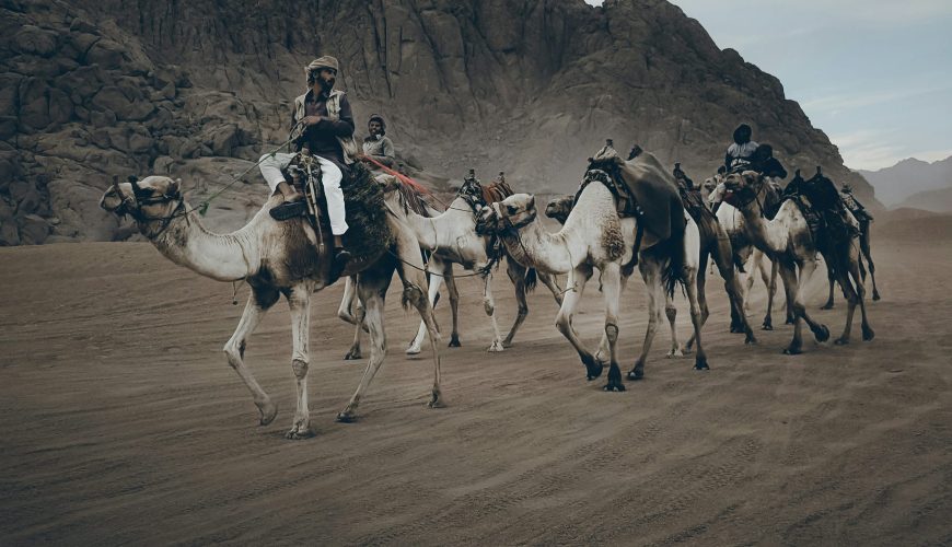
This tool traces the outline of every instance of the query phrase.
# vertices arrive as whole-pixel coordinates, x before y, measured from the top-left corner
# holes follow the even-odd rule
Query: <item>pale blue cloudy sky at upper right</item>
[[[848,167],[952,155],[952,0],[670,1],[779,78]]]

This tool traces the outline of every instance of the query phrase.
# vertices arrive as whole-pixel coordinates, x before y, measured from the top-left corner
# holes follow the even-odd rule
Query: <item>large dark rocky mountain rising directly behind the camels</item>
[[[791,171],[823,165],[878,205],[776,78],[664,0],[2,0],[0,14],[0,244],[126,235],[95,207],[113,175],[216,190],[283,141],[302,67],[327,54],[358,130],[384,114],[429,181],[503,170],[567,191],[605,138],[703,179],[746,121]],[[212,202],[212,228],[264,197],[253,171]]]

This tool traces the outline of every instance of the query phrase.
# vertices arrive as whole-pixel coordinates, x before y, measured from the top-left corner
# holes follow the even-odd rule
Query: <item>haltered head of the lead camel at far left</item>
[[[142,181],[129,177],[127,183],[113,185],[103,194],[100,207],[119,217],[132,217],[142,235],[158,236],[175,217],[184,214],[182,181],[167,176],[148,176]]]

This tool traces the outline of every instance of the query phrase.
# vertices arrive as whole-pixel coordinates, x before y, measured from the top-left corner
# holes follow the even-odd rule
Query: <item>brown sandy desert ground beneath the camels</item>
[[[286,305],[246,353],[281,405],[258,427],[220,351],[242,307],[230,284],[148,244],[0,249],[0,544],[948,545],[952,222],[924,222],[927,241],[874,224],[874,341],[857,323],[851,346],[811,340],[791,358],[778,326],[744,347],[715,279],[710,372],[664,359],[662,331],[647,379],[620,394],[585,382],[544,288],[516,345],[486,353],[466,280],[464,347],[443,350],[448,407],[426,409],[428,351],[403,354],[417,321],[392,291],[391,357],[353,424],[334,417],[363,362],[341,360],[351,330],[330,288],[313,305],[317,434],[304,441],[282,438],[294,397]],[[508,327],[511,286],[497,287]],[[838,335],[845,305],[820,312],[824,276],[811,288]],[[577,317],[592,344],[599,298],[590,290]],[[626,370],[643,303],[632,282]],[[438,313],[448,325],[445,303]],[[682,305],[683,337],[686,319]]]

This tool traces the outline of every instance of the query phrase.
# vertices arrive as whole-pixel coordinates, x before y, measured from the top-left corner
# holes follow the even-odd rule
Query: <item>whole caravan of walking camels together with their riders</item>
[[[420,316],[406,352],[419,353],[427,340],[432,352],[429,407],[443,403],[442,334],[433,306],[445,283],[452,312],[449,346],[460,347],[456,278],[463,276],[481,281],[483,310],[492,333],[488,351],[494,354],[513,344],[529,314],[526,293],[541,280],[558,305],[555,326],[578,353],[585,377],[599,379],[607,366],[606,392],[625,391],[626,377],[645,377],[652,341],[664,321],[662,310],[671,331],[669,357],[693,352],[694,368],[709,369],[701,336],[710,315],[709,261],[720,274],[730,302],[730,331],[744,334],[745,344],[756,342],[747,322],[747,300],[757,275],[768,288],[762,326],[774,328],[777,274],[788,323],[793,325],[783,353],[802,352],[803,323],[817,341],[828,339],[828,328],[808,313],[804,301],[804,287],[820,257],[831,283],[840,286],[848,304],[836,344],[849,342],[857,306],[863,340],[873,338],[863,286],[868,270],[873,299],[879,299],[869,254],[872,217],[848,189],[840,195],[819,167],[810,181],[798,171],[781,188],[778,181],[786,172],[778,172],[782,167],[770,153],[764,154],[764,146],[751,141],[747,126],[738,128],[724,166],[701,186],[696,187],[680,164],[670,173],[637,146],[623,159],[609,140],[587,164],[580,163],[573,195],[539,203],[531,194],[514,193],[502,172],[494,183],[483,185],[471,170],[444,203],[399,171],[382,116],[371,116],[370,135],[362,150],[357,146],[347,97],[334,90],[337,71],[333,57],[315,59],[305,68],[309,89],[294,102],[293,129],[285,143],[293,152],[276,150],[256,164],[271,195],[244,228],[211,233],[201,223],[207,202],[186,203],[181,181],[165,176],[114,179],[101,201],[105,210],[131,217],[140,233],[170,260],[219,281],[247,282],[247,303],[223,351],[251,391],[262,424],[276,418],[278,406],[252,375],[244,353],[264,315],[285,298],[297,387],[289,439],[313,434],[307,395],[311,296],[341,280],[345,291],[338,315],[355,326],[345,359],[361,359],[362,334],[370,339],[363,376],[337,415],[341,422],[358,418],[361,397],[386,356],[384,301],[394,271],[403,287],[404,307]],[[539,216],[543,205],[546,216],[561,224],[558,231],[550,231]],[[518,303],[515,321],[504,337],[492,287],[494,272],[502,263]],[[640,354],[623,376],[619,304],[636,268],[647,294],[648,327]],[[596,271],[604,327],[593,349],[580,339],[572,317]],[[829,305],[832,290],[831,286]],[[686,296],[690,314],[692,334],[685,345],[675,330],[677,292]]]

